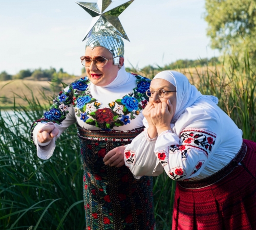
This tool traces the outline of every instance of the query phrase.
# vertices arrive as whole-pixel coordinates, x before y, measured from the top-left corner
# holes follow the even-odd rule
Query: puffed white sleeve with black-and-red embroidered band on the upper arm
[[[217,139],[221,138],[220,122],[214,113],[189,108],[177,123],[175,126],[182,126],[179,134],[171,130],[162,132],[154,151],[170,178],[190,179],[200,174],[217,149]]]

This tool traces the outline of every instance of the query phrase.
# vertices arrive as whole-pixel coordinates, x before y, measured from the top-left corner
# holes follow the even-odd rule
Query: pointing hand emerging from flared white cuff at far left
[[[58,134],[59,134],[58,128],[55,127],[54,123],[49,122],[38,130],[37,141],[39,143],[47,143],[51,141]]]

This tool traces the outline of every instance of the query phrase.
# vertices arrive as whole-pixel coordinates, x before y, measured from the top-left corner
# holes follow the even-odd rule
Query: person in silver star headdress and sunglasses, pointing
[[[81,57],[87,78],[63,89],[31,128],[38,157],[48,159],[61,133],[77,124],[86,229],[91,230],[155,229],[152,177],[135,178],[124,166],[124,158],[135,162],[124,149],[144,129],[142,111],[151,82],[124,67],[122,38],[129,38],[118,16],[133,1],[77,2],[93,16]],[[152,176],[156,174],[158,170]]]

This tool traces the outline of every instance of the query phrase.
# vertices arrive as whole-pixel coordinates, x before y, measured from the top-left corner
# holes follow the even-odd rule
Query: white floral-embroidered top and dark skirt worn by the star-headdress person
[[[141,112],[148,101],[145,91],[149,86],[149,79],[124,71],[106,88],[81,78],[62,90],[50,110],[32,125],[37,154],[48,159],[53,154],[55,139],[46,146],[39,145],[35,135],[38,129],[53,122],[59,136],[69,125],[77,123],[84,169],[81,182],[86,229],[155,227],[152,178],[143,176],[136,180],[126,166],[116,168],[103,163],[108,151],[131,143],[143,131]]]

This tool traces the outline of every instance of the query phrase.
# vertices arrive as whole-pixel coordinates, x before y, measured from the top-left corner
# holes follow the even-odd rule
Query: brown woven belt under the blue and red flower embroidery
[[[133,129],[130,131],[103,131],[103,130],[87,130],[81,128],[77,124],[77,134],[80,139],[101,142],[131,142],[137,135],[143,132],[144,127]]]

